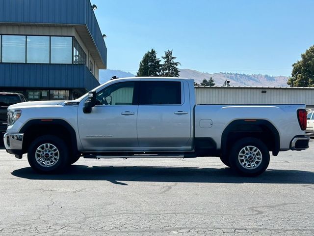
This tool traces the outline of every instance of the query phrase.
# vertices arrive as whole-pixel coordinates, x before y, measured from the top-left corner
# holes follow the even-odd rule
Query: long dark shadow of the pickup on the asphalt
[[[123,181],[314,184],[314,173],[308,171],[266,170],[258,177],[241,177],[230,168],[72,165],[64,174],[41,175],[26,167],[13,171],[12,175],[42,180],[105,180],[120,185],[128,185]]]

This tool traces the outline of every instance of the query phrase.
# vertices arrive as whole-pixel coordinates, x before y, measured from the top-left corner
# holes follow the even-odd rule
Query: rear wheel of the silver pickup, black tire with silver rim
[[[253,148],[249,148],[249,151],[245,151],[242,148],[245,147],[255,147],[259,149],[259,152],[257,152],[258,155],[262,155],[262,161],[259,162],[257,159],[257,162],[251,162],[252,164],[248,164],[245,168],[244,165],[246,163],[250,163],[250,159],[254,158],[257,155],[254,155],[254,152],[250,151],[253,150]],[[255,149],[256,150],[256,149]],[[248,161],[239,160],[240,151],[243,153],[246,153],[248,156]],[[253,153],[252,155],[250,153]],[[244,155],[243,155],[244,158]],[[233,147],[231,148],[230,154],[229,154],[229,162],[230,167],[235,170],[237,173],[244,175],[244,176],[258,176],[261,175],[268,167],[269,164],[269,150],[266,147],[266,145],[259,139],[256,138],[243,138],[239,141],[237,141]],[[241,164],[244,163],[243,165]],[[254,167],[256,165],[257,167]]]

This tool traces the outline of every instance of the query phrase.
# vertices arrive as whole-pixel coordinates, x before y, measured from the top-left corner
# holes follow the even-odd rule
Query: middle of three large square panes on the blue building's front
[[[26,37],[26,63],[49,63],[49,36]]]

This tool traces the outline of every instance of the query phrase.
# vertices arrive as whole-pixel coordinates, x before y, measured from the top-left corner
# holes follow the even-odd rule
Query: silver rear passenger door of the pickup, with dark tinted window
[[[140,147],[152,150],[159,148],[190,149],[187,146],[191,137],[192,114],[188,85],[183,86],[183,82],[175,81],[175,83],[179,83],[180,91],[178,91],[175,88],[176,84],[169,83],[169,81],[150,82],[145,80],[140,82],[137,116],[137,137]],[[143,105],[143,103],[151,104]]]

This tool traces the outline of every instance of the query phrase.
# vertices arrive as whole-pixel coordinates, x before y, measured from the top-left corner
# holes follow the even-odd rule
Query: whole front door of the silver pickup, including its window
[[[97,92],[91,113],[78,109],[78,130],[84,150],[123,151],[138,148],[136,119],[138,83],[117,82]],[[117,149],[119,148],[119,149]]]

